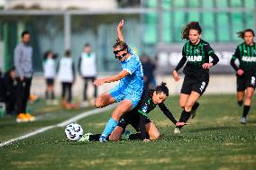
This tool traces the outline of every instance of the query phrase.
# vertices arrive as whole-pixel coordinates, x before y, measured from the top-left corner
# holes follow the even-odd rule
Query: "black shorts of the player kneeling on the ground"
[[[149,118],[145,120],[145,124],[151,122]],[[127,112],[125,113],[118,122],[117,126],[122,127],[123,130],[127,125],[131,124],[133,128],[138,132],[140,131],[140,113],[139,112]]]

